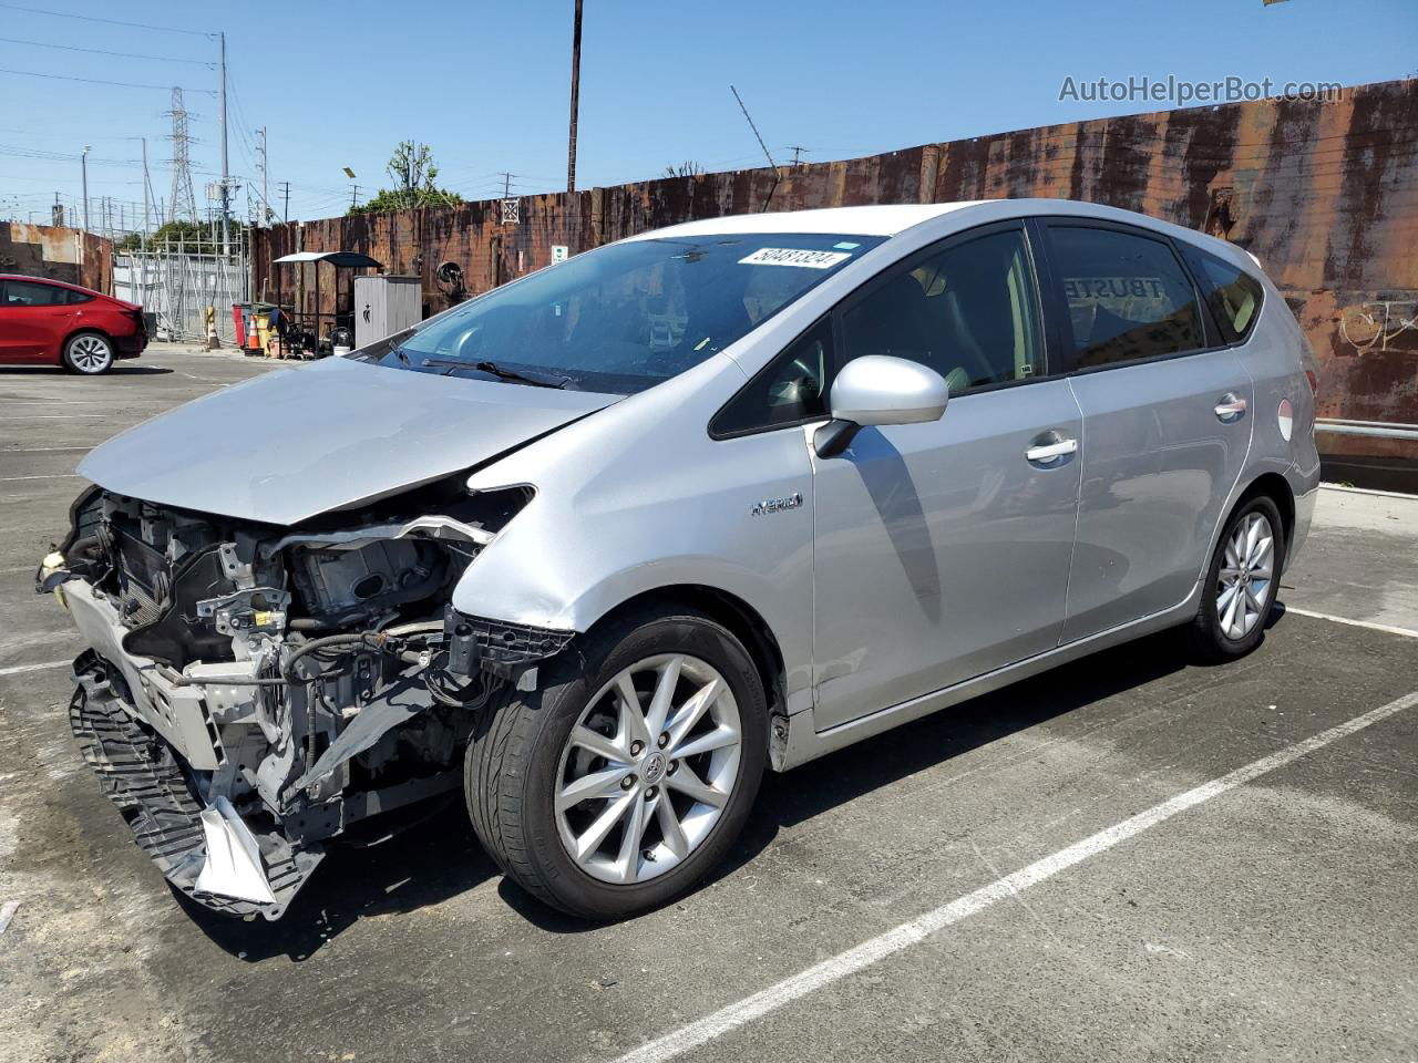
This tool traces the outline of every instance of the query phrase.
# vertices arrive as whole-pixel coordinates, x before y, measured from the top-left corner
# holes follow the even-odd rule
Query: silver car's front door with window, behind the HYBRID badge
[[[1082,417],[1048,376],[1022,224],[893,266],[837,322],[841,360],[920,361],[950,403],[813,455],[818,730],[1054,649],[1081,479]]]

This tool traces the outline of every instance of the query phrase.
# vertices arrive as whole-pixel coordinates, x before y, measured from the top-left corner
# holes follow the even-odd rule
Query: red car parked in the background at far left
[[[143,308],[88,288],[0,274],[0,366],[106,373],[147,346]]]

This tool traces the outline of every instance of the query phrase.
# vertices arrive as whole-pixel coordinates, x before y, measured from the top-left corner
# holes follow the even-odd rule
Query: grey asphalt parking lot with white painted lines
[[[1151,638],[770,775],[649,916],[540,907],[458,805],[279,923],[180,904],[78,755],[79,642],[31,577],[89,446],[271,369],[0,369],[0,1060],[1418,1059],[1400,496],[1322,492],[1252,656]]]

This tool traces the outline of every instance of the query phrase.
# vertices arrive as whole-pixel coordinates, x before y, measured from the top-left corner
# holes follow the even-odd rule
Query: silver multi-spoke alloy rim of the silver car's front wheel
[[[623,669],[562,751],[553,795],[562,845],[601,882],[664,874],[719,822],[742,746],[733,692],[708,662],[668,653]]]

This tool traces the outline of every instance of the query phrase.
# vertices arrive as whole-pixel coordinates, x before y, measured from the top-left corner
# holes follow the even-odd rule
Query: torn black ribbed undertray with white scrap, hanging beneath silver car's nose
[[[167,741],[138,723],[109,668],[92,649],[75,659],[69,729],[138,845],[173,887],[199,904],[228,916],[279,918],[319,865],[323,848],[292,846],[278,832],[254,835],[240,821],[233,822],[234,816],[204,809],[183,763]],[[254,865],[265,886],[255,893],[269,896],[269,901],[207,889],[218,865],[230,877],[233,860],[248,877]]]

